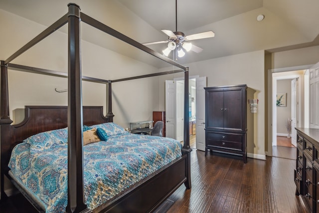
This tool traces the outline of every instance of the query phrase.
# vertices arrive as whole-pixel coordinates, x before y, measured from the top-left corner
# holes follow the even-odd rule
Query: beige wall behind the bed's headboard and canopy
[[[14,51],[31,40],[45,27],[20,16],[0,10],[0,59],[5,60]],[[25,33],[18,33],[18,32]],[[3,42],[5,41],[5,42]],[[158,72],[158,68],[131,59],[82,40],[82,74],[85,76],[118,79]],[[11,63],[67,72],[67,35],[56,31]],[[57,93],[55,88],[67,89],[67,78],[8,71],[10,117],[13,111],[25,105],[67,105],[67,93]],[[152,111],[158,108],[158,77],[113,83],[114,122],[128,127],[132,121],[152,119]],[[83,105],[104,106],[106,114],[107,86],[83,82]],[[15,122],[16,123],[16,122]]]

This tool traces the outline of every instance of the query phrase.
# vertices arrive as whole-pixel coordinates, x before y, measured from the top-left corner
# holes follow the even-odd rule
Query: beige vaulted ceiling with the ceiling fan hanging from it
[[[175,0],[73,0],[81,11],[144,43],[175,31]],[[67,12],[65,0],[0,0],[0,9],[49,26]],[[282,51],[319,45],[319,0],[177,0],[177,30],[186,35],[212,30],[213,38],[192,41],[203,49],[187,52],[180,63],[257,50]],[[257,21],[259,14],[264,20]],[[92,43],[119,51],[92,33]],[[161,52],[166,44],[149,45]],[[123,51],[123,49],[121,50]],[[124,51],[130,57],[130,51]]]

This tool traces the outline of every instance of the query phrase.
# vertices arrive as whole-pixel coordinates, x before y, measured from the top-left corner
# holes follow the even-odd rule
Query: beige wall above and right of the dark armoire
[[[254,98],[259,99],[258,112],[253,115],[254,136],[247,142],[250,157],[265,156],[265,85],[264,85],[264,51],[255,51],[215,58],[206,61],[186,64],[189,76],[206,76],[207,86],[247,84],[255,90]],[[168,70],[172,67],[167,68]],[[170,75],[171,79],[183,74]],[[160,78],[160,110],[165,109],[165,77]]]

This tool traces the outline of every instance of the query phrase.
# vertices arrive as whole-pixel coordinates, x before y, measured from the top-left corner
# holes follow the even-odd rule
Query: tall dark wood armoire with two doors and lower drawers
[[[247,162],[247,86],[205,88],[205,156],[207,150]]]

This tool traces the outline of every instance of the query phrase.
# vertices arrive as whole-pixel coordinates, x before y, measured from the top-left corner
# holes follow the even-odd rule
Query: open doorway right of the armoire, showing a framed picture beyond
[[[282,68],[276,70],[268,70],[268,80],[269,80],[269,93],[268,93],[268,106],[269,106],[269,120],[268,120],[268,156],[281,155],[280,153],[296,153],[291,151],[295,146],[286,147],[285,152],[281,152],[279,149],[284,149],[285,146],[278,146],[277,144],[277,136],[286,137],[295,135],[292,130],[295,130],[295,127],[301,127],[304,125],[304,109],[305,109],[305,96],[308,96],[307,89],[305,90],[304,85],[304,77],[306,73],[306,68],[308,66],[300,66],[300,67],[291,67],[291,68]],[[286,89],[282,89],[278,87],[279,82],[286,81]],[[297,83],[296,83],[297,82]],[[296,91],[293,89],[298,85]],[[277,95],[282,95],[280,93],[284,93],[286,98],[290,100],[288,103],[286,102],[286,106],[277,106],[278,99]],[[286,100],[287,101],[287,100]],[[287,107],[288,104],[288,107]],[[290,107],[290,110],[287,110]],[[280,112],[278,112],[281,110]],[[288,111],[288,114],[287,114]],[[285,112],[286,114],[284,114]],[[279,116],[277,116],[279,115]],[[284,117],[282,116],[284,115]],[[280,119],[278,119],[278,117]],[[278,121],[279,120],[279,121]],[[294,120],[294,121],[292,121]],[[291,121],[290,132],[288,131],[289,121]],[[281,122],[281,123],[280,123]],[[287,126],[288,125],[288,126]],[[278,128],[281,126],[281,128]],[[289,135],[288,135],[289,134]],[[279,138],[280,139],[280,138]],[[284,139],[284,138],[281,138]],[[291,144],[295,143],[295,138],[290,139]],[[282,141],[282,140],[281,140]],[[280,144],[282,145],[282,144]],[[278,149],[279,148],[279,149]],[[276,150],[275,150],[276,149]],[[296,148],[295,148],[296,149]],[[287,151],[290,150],[290,151]],[[279,153],[279,154],[278,154]],[[296,155],[296,154],[295,154]],[[281,156],[277,156],[281,157]],[[290,158],[290,157],[285,157]],[[292,157],[295,159],[294,157]]]

